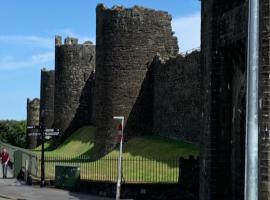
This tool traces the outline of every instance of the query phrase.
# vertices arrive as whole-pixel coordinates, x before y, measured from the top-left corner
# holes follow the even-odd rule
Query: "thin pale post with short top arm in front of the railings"
[[[120,192],[121,192],[121,181],[122,181],[122,156],[123,156],[123,136],[124,136],[124,116],[115,116],[113,117],[115,120],[121,120],[121,140],[119,147],[119,160],[118,160],[118,178],[116,184],[116,200],[120,200]]]

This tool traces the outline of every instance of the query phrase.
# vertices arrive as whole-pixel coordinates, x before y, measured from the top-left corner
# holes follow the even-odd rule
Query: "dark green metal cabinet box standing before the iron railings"
[[[80,188],[80,167],[56,165],[55,187],[77,191]]]

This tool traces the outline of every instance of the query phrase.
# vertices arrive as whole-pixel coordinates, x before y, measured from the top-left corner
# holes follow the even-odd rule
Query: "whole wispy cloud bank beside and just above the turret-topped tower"
[[[92,41],[95,43],[95,38],[83,36],[74,33],[71,29],[66,28],[62,30],[55,31],[56,35],[61,35],[63,38],[76,37],[79,39],[80,43],[84,41]],[[48,64],[54,63],[54,37],[40,37],[35,35],[0,35],[0,44],[13,45],[12,48],[16,47],[16,50],[13,52],[14,55],[10,56],[7,53],[11,52],[4,51],[0,57],[0,70],[16,70],[22,68],[31,68],[31,67],[42,67],[47,66]],[[25,47],[28,47],[28,52],[33,53],[33,55],[27,53],[29,56],[25,58],[18,55],[18,52],[24,51]],[[36,49],[42,49],[44,53],[35,53]],[[39,51],[40,52],[40,51]]]

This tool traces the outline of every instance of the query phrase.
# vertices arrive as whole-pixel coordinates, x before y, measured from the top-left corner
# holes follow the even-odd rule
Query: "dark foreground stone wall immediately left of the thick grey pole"
[[[201,200],[244,198],[247,11],[245,0],[202,1]]]

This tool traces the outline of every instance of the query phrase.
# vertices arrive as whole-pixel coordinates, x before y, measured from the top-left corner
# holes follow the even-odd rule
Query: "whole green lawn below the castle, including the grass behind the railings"
[[[83,127],[54,150],[53,145],[47,142],[46,177],[54,178],[57,164],[78,165],[82,179],[115,181],[118,149],[95,161],[87,156],[94,147],[94,132],[94,127]],[[39,153],[40,147],[35,151]],[[124,144],[123,151],[123,176],[126,182],[177,182],[178,158],[199,155],[197,145],[160,136],[131,138]]]

